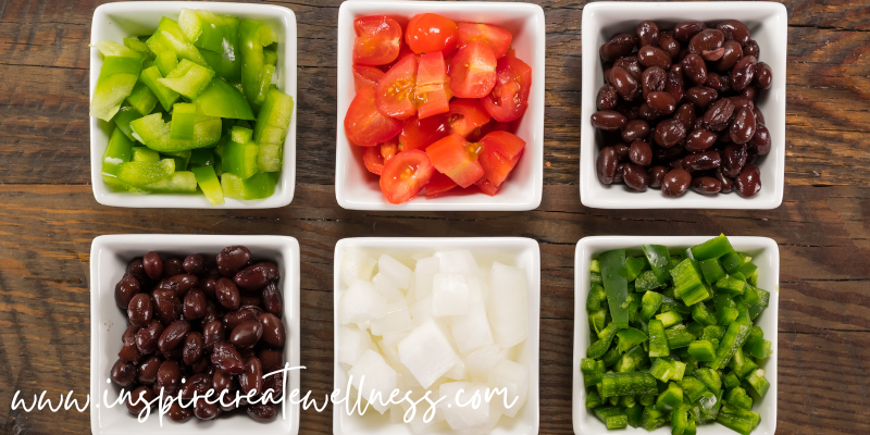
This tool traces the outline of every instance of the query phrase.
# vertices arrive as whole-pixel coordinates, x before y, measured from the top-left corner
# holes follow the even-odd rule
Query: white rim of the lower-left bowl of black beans
[[[119,249],[127,248],[135,249],[141,246],[147,252],[150,248],[158,247],[159,250],[188,250],[190,245],[209,246],[216,253],[220,249],[232,245],[245,245],[256,250],[260,247],[266,247],[279,251],[278,256],[283,257],[284,272],[283,272],[283,287],[282,295],[284,297],[284,311],[282,321],[285,326],[289,328],[287,337],[290,344],[287,345],[285,352],[289,353],[288,363],[290,366],[300,366],[300,251],[299,241],[291,236],[268,236],[268,235],[207,235],[207,234],[112,234],[101,235],[94,238],[90,247],[89,257],[89,282],[88,287],[90,290],[90,386],[89,393],[91,401],[89,403],[90,412],[90,430],[96,435],[125,435],[125,432],[104,428],[100,423],[103,411],[115,412],[113,410],[105,410],[102,406],[102,390],[107,387],[101,381],[105,378],[104,373],[100,373],[100,364],[98,363],[102,358],[102,345],[99,340],[100,327],[102,327],[102,315],[100,312],[100,298],[112,297],[114,289],[113,283],[103,283],[100,279],[100,254],[109,253],[114,254]],[[211,253],[211,252],[210,252]],[[287,319],[291,318],[291,319]],[[287,376],[289,388],[285,388],[285,402],[287,409],[287,419],[289,420],[290,427],[285,430],[277,427],[281,420],[276,419],[271,423],[258,423],[253,420],[246,421],[244,424],[256,424],[257,428],[261,430],[264,434],[289,434],[296,435],[299,433],[299,402],[290,400],[290,393],[293,390],[300,390],[300,371],[294,370]],[[120,406],[117,412],[126,413],[126,409]],[[151,419],[154,419],[154,410],[152,410]],[[135,423],[135,418],[130,417],[130,423]],[[274,428],[271,426],[275,426]],[[160,428],[161,433],[169,435],[187,435],[199,433],[201,431],[211,431],[216,434],[223,434],[221,427],[198,427],[197,424],[164,424]],[[216,431],[216,432],[215,432]]]

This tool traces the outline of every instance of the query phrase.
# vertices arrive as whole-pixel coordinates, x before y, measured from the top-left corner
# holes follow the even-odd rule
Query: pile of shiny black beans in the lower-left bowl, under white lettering
[[[210,389],[213,398],[226,390],[224,403],[269,391],[275,400],[284,390],[279,374],[286,341],[281,320],[284,306],[277,266],[252,262],[244,246],[229,246],[207,259],[199,253],[163,258],[148,252],[127,263],[115,286],[115,302],[126,311],[128,327],[110,378],[132,390],[127,409],[138,415],[147,401],[163,391],[187,403]],[[241,403],[257,421],[271,421],[278,407]],[[196,415],[212,420],[233,406],[198,399],[183,408],[177,400],[167,415],[185,422]]]

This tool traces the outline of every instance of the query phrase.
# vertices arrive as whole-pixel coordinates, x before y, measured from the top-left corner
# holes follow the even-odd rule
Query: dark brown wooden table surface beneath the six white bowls
[[[340,1],[276,2],[299,33],[296,197],[266,211],[99,206],[88,157],[95,0],[0,2],[0,427],[89,433],[87,412],[12,411],[25,397],[89,388],[88,252],[116,233],[275,234],[302,253],[302,390],[333,389],[333,248],[358,236],[522,236],[540,244],[540,433],[570,434],[573,252],[591,235],[765,236],[779,243],[779,433],[870,433],[870,1],[786,1],[785,199],[770,211],[605,211],[581,206],[581,14],[547,23],[544,201],[523,213],[369,213],[334,195]],[[330,411],[302,434],[332,433]]]

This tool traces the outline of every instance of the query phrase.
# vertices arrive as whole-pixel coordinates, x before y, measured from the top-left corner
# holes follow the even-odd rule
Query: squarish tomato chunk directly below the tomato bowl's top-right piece
[[[462,46],[450,63],[450,90],[459,98],[483,98],[496,84],[496,57],[487,45]]]

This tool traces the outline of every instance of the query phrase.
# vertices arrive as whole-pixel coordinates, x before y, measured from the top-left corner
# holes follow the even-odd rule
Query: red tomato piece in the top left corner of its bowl
[[[388,16],[361,16],[353,21],[353,63],[383,65],[399,54],[401,26]]]

